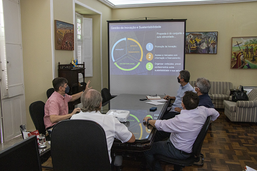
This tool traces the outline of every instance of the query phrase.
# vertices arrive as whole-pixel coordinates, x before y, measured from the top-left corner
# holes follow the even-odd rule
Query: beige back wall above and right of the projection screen
[[[113,9],[112,20],[187,19],[186,32],[218,32],[217,54],[186,54],[191,80],[206,77],[233,85],[257,86],[256,69],[230,69],[232,37],[257,36],[257,2]]]

